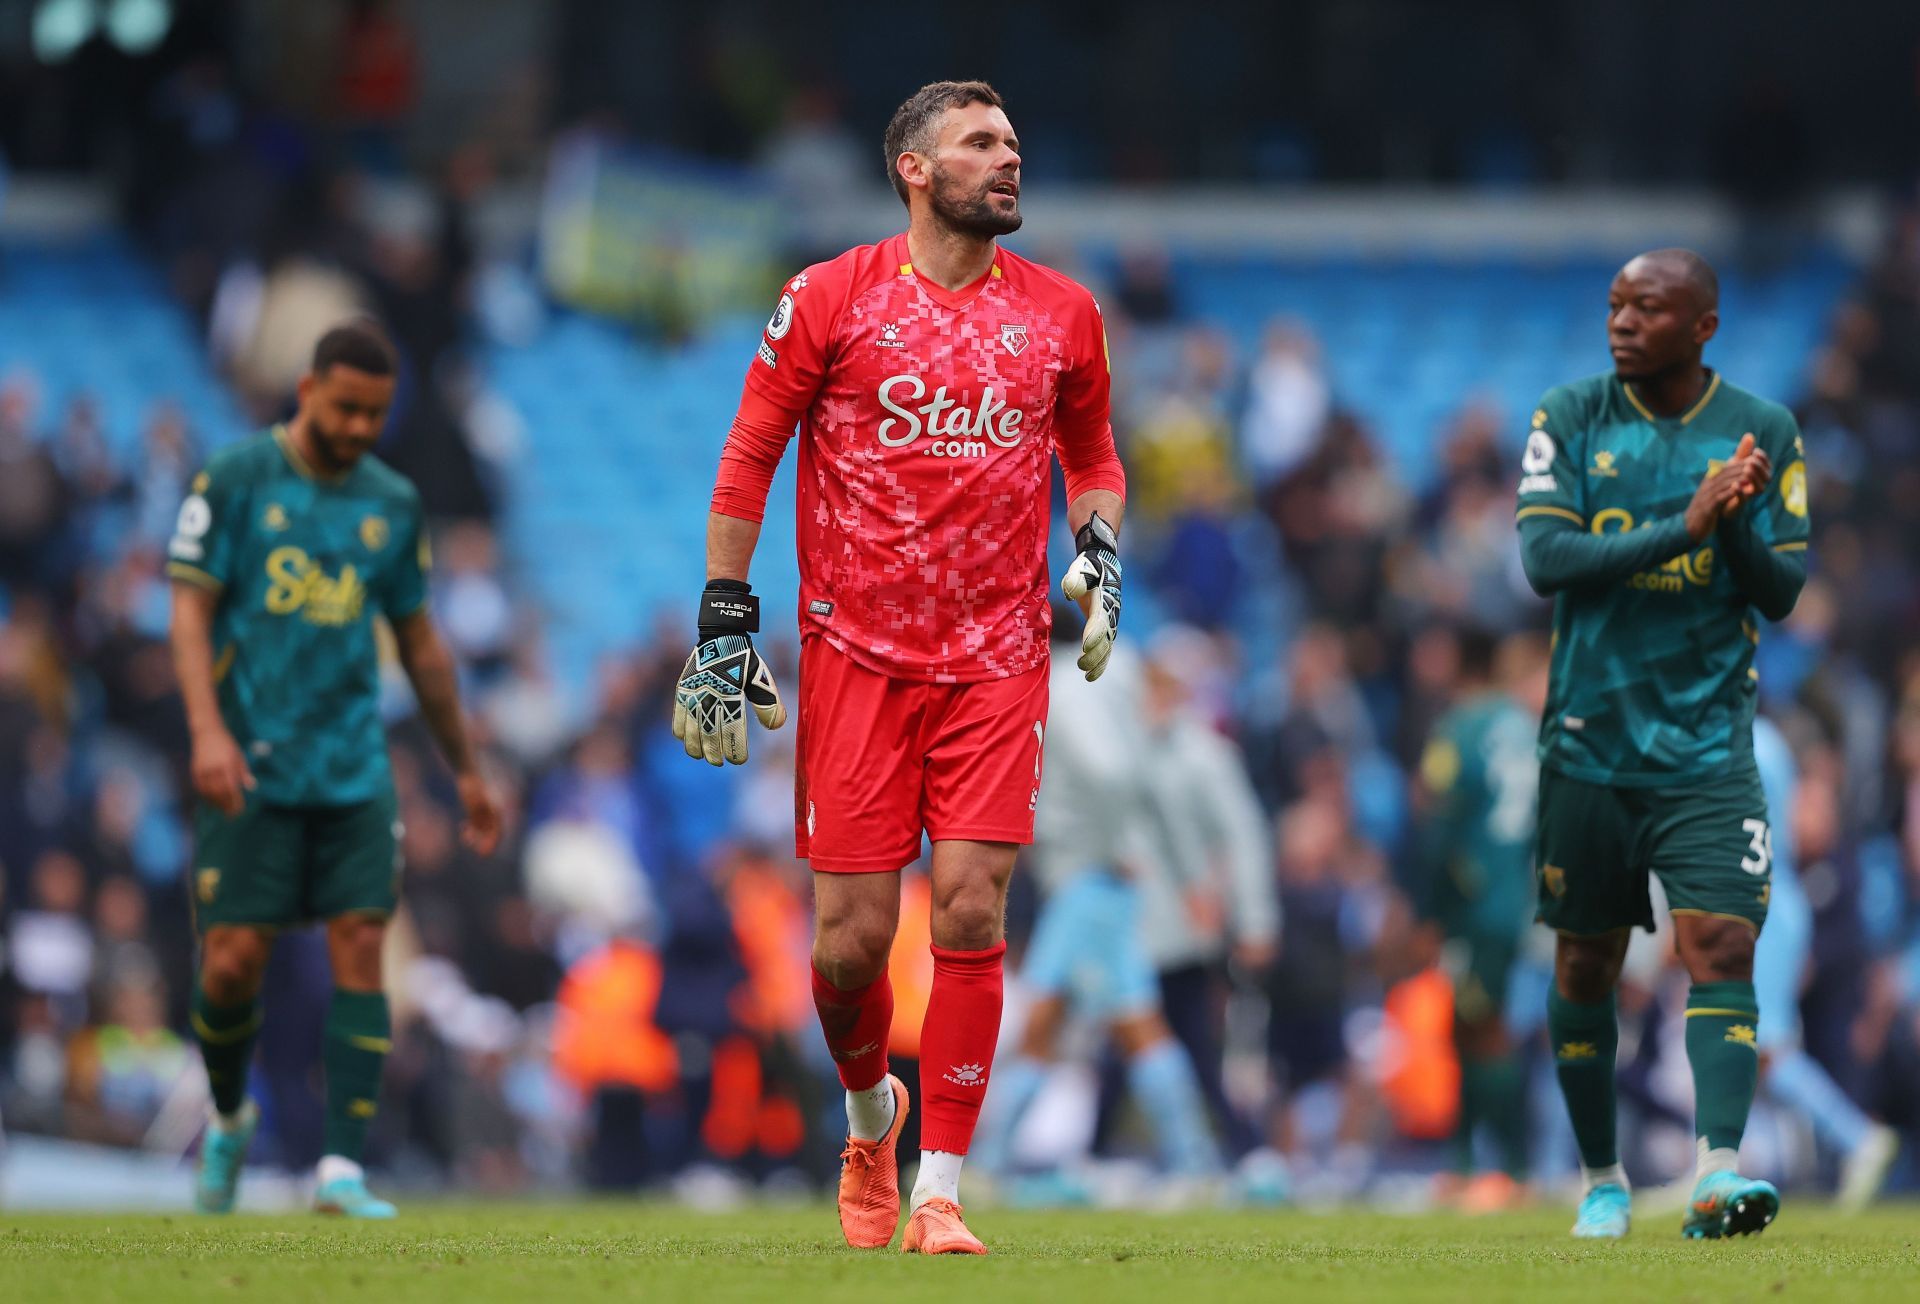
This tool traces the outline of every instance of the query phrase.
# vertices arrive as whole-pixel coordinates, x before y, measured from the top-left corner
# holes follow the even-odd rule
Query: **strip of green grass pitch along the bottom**
[[[388,1225],[0,1212],[0,1300],[1920,1298],[1914,1206],[1845,1218],[1788,1202],[1761,1237],[1686,1243],[1672,1218],[1620,1244],[1571,1241],[1563,1210],[1478,1219],[981,1210],[972,1221],[991,1258],[854,1252],[826,1206],[415,1204]]]

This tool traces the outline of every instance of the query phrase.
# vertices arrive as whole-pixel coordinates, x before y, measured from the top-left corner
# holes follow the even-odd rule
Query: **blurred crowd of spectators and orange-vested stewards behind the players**
[[[666,712],[691,588],[687,611],[660,611],[657,634],[609,655],[591,686],[561,686],[545,664],[541,557],[497,532],[515,488],[490,465],[472,403],[480,269],[467,200],[488,157],[455,152],[419,234],[369,232],[348,215],[349,182],[313,169],[296,129],[273,123],[261,146],[269,125],[255,123],[252,167],[238,169],[207,144],[228,140],[223,113],[238,100],[211,71],[171,92],[140,152],[167,163],[134,179],[129,223],[244,409],[284,411],[315,323],[372,305],[396,332],[407,399],[382,451],[438,520],[434,611],[513,816],[493,857],[459,843],[447,776],[390,676],[407,876],[374,1162],[470,1191],[818,1187],[839,1099],[806,989],[789,739],[756,736],[753,764],[726,778],[680,753]],[[1129,592],[1156,613],[1125,638],[1177,678],[1181,711],[1238,745],[1261,810],[1198,885],[1165,887],[1181,912],[1154,939],[1169,1018],[1202,1056],[1233,1152],[1283,1150],[1302,1189],[1336,1195],[1430,1171],[1446,1162],[1452,1110],[1432,1097],[1444,1079],[1432,1070],[1450,1050],[1446,1018],[1400,962],[1400,874],[1461,634],[1546,620],[1513,532],[1524,413],[1463,396],[1430,436],[1438,474],[1411,476],[1286,303],[1240,357],[1185,307],[1162,259],[1121,263],[1100,298],[1131,476]],[[1860,271],[1805,374],[1736,380],[1795,407],[1814,471],[1812,580],[1759,653],[1764,707],[1801,768],[1797,857],[1816,918],[1805,1039],[1857,1100],[1920,1141],[1920,209]],[[213,432],[165,386],[136,434],[104,428],[84,388],[58,405],[48,396],[0,344],[0,1118],[19,1133],[179,1152],[204,1087],[184,1037],[186,736],[159,549]],[[716,457],[722,434],[678,438]],[[662,565],[687,586],[697,576],[693,557]],[[791,682],[791,643],[774,640],[772,655]],[[1277,935],[1242,930],[1271,914],[1265,903],[1279,906]],[[927,887],[910,874],[895,951],[895,1047],[908,1064],[929,979],[925,914]],[[1031,887],[1016,887],[1012,916],[1018,953]],[[1546,970],[1523,968],[1513,1020],[1544,1070]],[[1630,968],[1638,1035],[1622,1068],[1642,1123],[1628,1129],[1630,1164],[1657,1177],[1690,1154],[1690,1102],[1661,1072],[1684,985],[1657,945]],[[257,1083],[261,1152],[288,1168],[319,1150],[324,997],[317,939],[282,939]],[[1085,1066],[1058,1108],[1100,1152],[1131,1154],[1137,1129],[1100,1079],[1098,1062]],[[1551,1074],[1536,1099],[1538,1164],[1565,1170]],[[1755,1133],[1763,1171],[1812,1179],[1834,1162],[1791,1120]]]

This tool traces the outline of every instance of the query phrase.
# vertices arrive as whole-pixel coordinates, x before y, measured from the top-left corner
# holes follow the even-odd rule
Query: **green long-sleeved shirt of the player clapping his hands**
[[[1774,478],[1693,543],[1686,505],[1749,432]],[[1676,417],[1653,415],[1613,374],[1548,390],[1526,438],[1519,528],[1536,586],[1549,551],[1580,553],[1553,580],[1542,764],[1630,787],[1753,764],[1755,607],[1784,616],[1805,578],[1807,461],[1793,415],[1718,373]],[[1569,528],[1609,542],[1567,547]]]

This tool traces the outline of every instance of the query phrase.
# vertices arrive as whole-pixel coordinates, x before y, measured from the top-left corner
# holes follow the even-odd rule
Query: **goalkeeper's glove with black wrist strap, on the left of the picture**
[[[774,672],[749,638],[760,632],[760,599],[745,580],[708,580],[699,632],[674,688],[674,737],[707,764],[745,764],[747,707],[770,730],[787,722]]]

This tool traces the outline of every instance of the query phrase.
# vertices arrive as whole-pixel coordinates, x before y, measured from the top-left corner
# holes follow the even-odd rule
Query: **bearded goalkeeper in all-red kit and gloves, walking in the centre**
[[[1046,734],[1050,457],[1077,555],[1062,588],[1106,668],[1119,624],[1125,474],[1100,307],[1000,250],[1020,140],[985,83],[933,83],[887,125],[908,225],[789,280],[747,367],[707,524],[699,645],[676,689],[689,757],[747,759],[747,709],[785,707],[751,636],[747,567],[801,432],[797,853],[814,870],[814,1006],[847,1087],[841,1231],[893,1241],[910,1106],[887,1072],[900,870],[933,841],[922,1154],[902,1250],[985,1254],[960,1216],[1000,1031],[1014,853],[1033,841]]]

